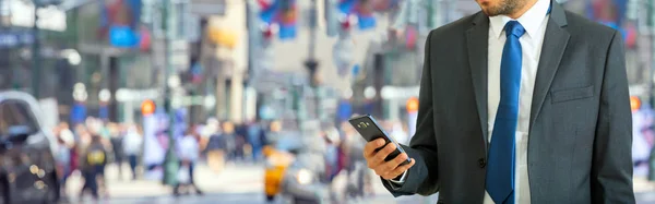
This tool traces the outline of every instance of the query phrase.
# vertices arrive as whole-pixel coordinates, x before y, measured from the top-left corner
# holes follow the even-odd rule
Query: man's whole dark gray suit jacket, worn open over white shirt
[[[430,33],[416,165],[394,196],[439,192],[439,203],[481,204],[487,163],[487,46],[481,12]],[[553,3],[531,109],[533,204],[634,203],[632,117],[621,35]]]

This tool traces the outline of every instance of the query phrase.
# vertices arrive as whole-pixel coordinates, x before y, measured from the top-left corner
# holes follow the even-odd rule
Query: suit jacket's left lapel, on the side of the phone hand
[[[477,103],[478,116],[483,128],[483,139],[485,142],[485,152],[488,146],[488,123],[487,123],[487,58],[489,46],[489,19],[478,13],[474,21],[474,26],[466,31],[466,45],[468,49],[468,63],[471,65],[471,76]]]

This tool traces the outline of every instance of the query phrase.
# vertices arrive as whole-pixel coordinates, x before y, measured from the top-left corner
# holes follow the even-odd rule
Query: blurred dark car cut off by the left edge
[[[34,97],[0,92],[0,204],[57,203],[59,182],[50,131]]]

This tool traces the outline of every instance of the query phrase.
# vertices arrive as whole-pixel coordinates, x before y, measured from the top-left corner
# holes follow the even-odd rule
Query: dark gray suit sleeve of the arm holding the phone
[[[430,32],[426,40],[424,70],[420,80],[419,108],[416,133],[409,146],[402,145],[409,158],[416,164],[407,170],[402,184],[382,181],[384,187],[394,195],[421,194],[430,195],[439,191],[437,141],[434,139],[434,121],[432,107],[432,76],[430,67]]]

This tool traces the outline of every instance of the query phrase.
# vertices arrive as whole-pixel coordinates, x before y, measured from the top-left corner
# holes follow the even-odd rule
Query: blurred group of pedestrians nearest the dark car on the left
[[[57,168],[61,184],[61,194],[66,196],[68,178],[79,175],[84,179],[80,189],[80,197],[91,194],[98,199],[109,196],[105,180],[107,164],[129,164],[132,179],[138,178],[136,167],[141,155],[143,137],[142,130],[136,124],[106,123],[90,118],[85,123],[70,128],[61,122],[53,130],[58,141]],[[120,166],[119,166],[120,167]],[[122,178],[122,168],[119,177]]]

